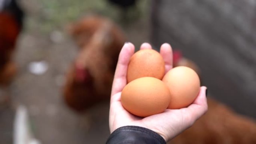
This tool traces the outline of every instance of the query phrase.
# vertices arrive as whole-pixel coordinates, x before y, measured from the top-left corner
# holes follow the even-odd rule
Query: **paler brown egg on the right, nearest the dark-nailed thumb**
[[[190,105],[200,91],[200,80],[194,70],[188,67],[175,67],[162,79],[171,93],[170,109],[185,108]]]

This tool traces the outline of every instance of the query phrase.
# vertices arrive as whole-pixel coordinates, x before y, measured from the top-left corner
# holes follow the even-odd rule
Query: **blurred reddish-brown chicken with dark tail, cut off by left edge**
[[[22,29],[23,12],[15,0],[0,1],[0,85],[6,86],[16,72],[12,62],[16,40]]]

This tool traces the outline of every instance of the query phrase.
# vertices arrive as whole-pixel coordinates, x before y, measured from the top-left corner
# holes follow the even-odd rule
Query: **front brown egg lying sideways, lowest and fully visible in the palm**
[[[168,107],[170,98],[167,85],[154,77],[141,77],[131,81],[121,94],[123,107],[140,117],[162,113]]]

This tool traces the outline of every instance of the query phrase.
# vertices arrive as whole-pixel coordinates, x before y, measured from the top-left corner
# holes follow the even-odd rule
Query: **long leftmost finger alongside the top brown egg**
[[[116,65],[115,76],[112,85],[111,96],[121,92],[127,84],[127,68],[129,60],[134,53],[134,45],[132,43],[125,43],[121,52],[119,53],[118,63]]]

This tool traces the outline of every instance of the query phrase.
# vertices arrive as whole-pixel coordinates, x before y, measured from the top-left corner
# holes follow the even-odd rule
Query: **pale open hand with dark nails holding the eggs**
[[[207,111],[207,100],[205,96],[206,87],[202,86],[195,101],[186,108],[177,110],[167,109],[163,113],[148,117],[138,117],[122,107],[121,92],[127,85],[127,67],[130,57],[134,53],[134,45],[125,43],[118,59],[115,77],[112,85],[110,99],[109,127],[112,133],[122,126],[141,126],[155,131],[161,135],[165,141],[169,141],[193,123]],[[152,49],[148,43],[143,43],[140,49]],[[165,73],[172,65],[173,53],[171,46],[167,43],[160,48],[160,54],[165,61]]]

